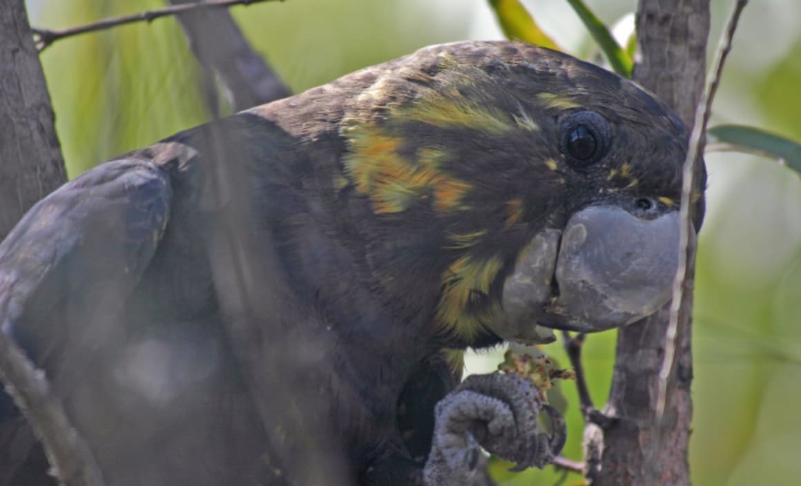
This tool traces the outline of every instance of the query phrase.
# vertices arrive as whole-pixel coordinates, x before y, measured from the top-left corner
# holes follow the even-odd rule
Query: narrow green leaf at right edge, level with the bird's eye
[[[777,159],[801,173],[801,143],[755,127],[718,125],[706,131],[707,151],[739,151]]]

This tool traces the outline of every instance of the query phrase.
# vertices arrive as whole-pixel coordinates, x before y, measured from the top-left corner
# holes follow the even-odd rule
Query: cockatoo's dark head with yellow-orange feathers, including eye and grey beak
[[[442,330],[543,342],[670,299],[688,132],[653,94],[521,42],[427,47],[338,82],[356,84],[337,187],[368,205],[385,287],[434,272]]]

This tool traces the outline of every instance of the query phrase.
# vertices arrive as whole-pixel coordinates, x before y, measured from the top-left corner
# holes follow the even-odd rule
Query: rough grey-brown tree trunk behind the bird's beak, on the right
[[[702,93],[709,34],[708,0],[640,0],[638,45],[642,58],[634,78],[670,103],[688,127]],[[691,245],[693,246],[693,245]],[[694,247],[690,248],[694,255]],[[618,420],[586,428],[586,475],[607,484],[690,484],[688,449],[692,400],[690,346],[694,258],[690,257],[676,361],[667,387],[665,413],[656,413],[668,307],[618,332],[612,389],[604,412]]]

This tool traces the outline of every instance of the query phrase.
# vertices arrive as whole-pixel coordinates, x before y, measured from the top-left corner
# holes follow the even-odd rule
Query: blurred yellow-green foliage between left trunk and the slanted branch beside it
[[[30,9],[32,23],[53,27],[163,6],[155,0],[33,3],[41,5]],[[70,176],[208,118],[198,67],[173,19],[56,42],[42,62]]]

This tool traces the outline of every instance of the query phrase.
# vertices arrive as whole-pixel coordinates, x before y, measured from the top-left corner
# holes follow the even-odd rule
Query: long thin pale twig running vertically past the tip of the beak
[[[682,311],[682,298],[684,294],[684,283],[687,275],[687,249],[690,245],[690,197],[694,184],[695,161],[700,158],[703,148],[702,139],[706,133],[706,124],[709,122],[712,113],[712,100],[718,90],[720,78],[723,73],[723,65],[731,50],[731,39],[734,38],[740,14],[743,13],[748,0],[738,0],[735,10],[731,13],[731,18],[727,24],[726,33],[721,38],[718,50],[715,53],[715,60],[709,82],[707,82],[698,106],[695,110],[693,131],[690,134],[690,145],[687,148],[687,157],[682,166],[682,200],[679,219],[678,240],[678,270],[673,280],[673,300],[670,303],[670,321],[665,335],[665,356],[662,360],[662,369],[659,371],[659,388],[657,395],[657,420],[662,420],[665,413],[665,403],[667,396],[667,380],[673,372],[673,361],[676,354],[676,335],[678,333],[678,316]]]

